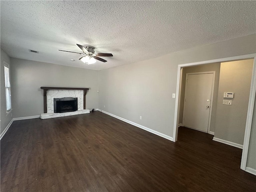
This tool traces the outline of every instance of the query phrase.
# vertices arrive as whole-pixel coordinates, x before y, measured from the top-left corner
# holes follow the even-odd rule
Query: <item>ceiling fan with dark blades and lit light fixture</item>
[[[102,62],[107,62],[106,60],[100,58],[100,57],[112,57],[113,55],[111,53],[94,53],[94,48],[90,46],[82,46],[79,44],[76,44],[84,53],[78,53],[78,52],[72,52],[72,51],[65,51],[65,52],[70,52],[70,53],[78,53],[80,55],[83,55],[79,60],[81,60],[84,63],[87,64],[93,64],[96,62],[96,60],[102,61]],[[64,50],[59,50],[59,51],[64,51]],[[98,57],[100,56],[100,57]]]

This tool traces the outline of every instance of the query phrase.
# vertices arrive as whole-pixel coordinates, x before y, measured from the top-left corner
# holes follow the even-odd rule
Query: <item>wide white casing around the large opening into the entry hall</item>
[[[246,127],[245,127],[245,133],[244,133],[244,144],[243,144],[242,159],[241,159],[241,166],[240,166],[242,170],[246,171],[249,142],[250,142],[250,135],[251,135],[251,128],[252,128],[252,116],[253,116],[254,102],[255,102],[255,96],[256,96],[256,53],[178,65],[176,100],[175,100],[175,109],[174,109],[175,111],[174,111],[173,142],[176,142],[178,138],[178,112],[180,107],[179,90],[180,90],[181,69],[188,66],[198,66],[198,65],[210,64],[210,63],[216,63],[216,62],[228,62],[228,61],[236,61],[236,60],[244,60],[244,59],[254,59],[254,64],[252,68],[252,81],[250,86],[248,111],[247,111],[247,118],[246,118]]]

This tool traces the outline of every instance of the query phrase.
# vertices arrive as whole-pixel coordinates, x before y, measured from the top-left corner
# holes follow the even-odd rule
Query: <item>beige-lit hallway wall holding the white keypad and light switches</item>
[[[253,59],[220,64],[214,137],[243,144],[252,80]],[[234,92],[232,105],[223,105],[224,92]]]

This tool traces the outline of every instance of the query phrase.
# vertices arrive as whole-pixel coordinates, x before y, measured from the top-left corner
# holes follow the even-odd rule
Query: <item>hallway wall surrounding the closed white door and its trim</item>
[[[199,66],[183,68],[181,93],[180,93],[179,124],[182,124],[182,118],[183,118],[186,73],[207,72],[207,71],[215,71],[214,94],[213,94],[213,101],[212,101],[212,116],[211,116],[211,123],[210,123],[210,131],[214,132],[215,120],[216,120],[217,99],[218,99],[218,86],[219,86],[219,78],[220,78],[220,63],[212,63],[212,64],[207,64],[207,65],[199,65]]]

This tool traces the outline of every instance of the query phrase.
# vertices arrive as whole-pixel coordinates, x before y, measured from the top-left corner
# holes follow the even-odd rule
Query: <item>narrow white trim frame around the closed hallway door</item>
[[[186,79],[188,78],[188,75],[197,75],[197,74],[213,74],[212,76],[212,91],[211,91],[211,103],[210,103],[210,112],[209,112],[209,118],[208,118],[208,127],[207,127],[207,133],[210,134],[210,124],[212,119],[212,102],[213,102],[213,94],[214,94],[214,85],[215,85],[215,71],[205,71],[205,72],[194,72],[194,73],[186,73]],[[184,103],[185,103],[185,95],[186,95],[186,81],[185,79],[185,91],[184,91]],[[183,105],[183,116],[184,117],[184,105]],[[182,120],[183,124],[183,120]],[[197,130],[197,129],[195,129]],[[198,130],[200,131],[200,130]]]

